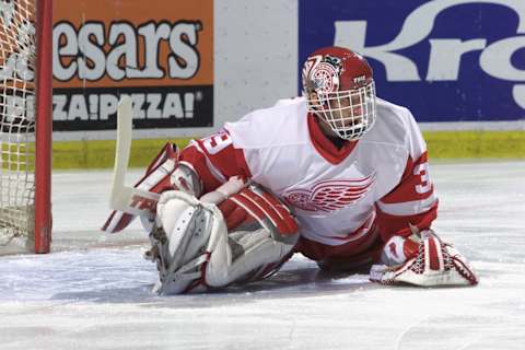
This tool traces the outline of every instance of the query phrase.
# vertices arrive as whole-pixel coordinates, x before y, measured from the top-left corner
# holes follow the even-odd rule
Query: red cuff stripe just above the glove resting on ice
[[[438,218],[438,200],[428,211],[413,215],[392,215],[381,211],[377,206],[375,208],[377,226],[384,242],[387,242],[394,235],[405,237],[411,235],[409,224],[417,226],[420,231],[428,230],[432,221]]]

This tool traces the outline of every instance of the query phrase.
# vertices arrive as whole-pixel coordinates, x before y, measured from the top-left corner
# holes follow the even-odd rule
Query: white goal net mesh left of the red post
[[[0,0],[0,248],[34,232],[35,12]]]

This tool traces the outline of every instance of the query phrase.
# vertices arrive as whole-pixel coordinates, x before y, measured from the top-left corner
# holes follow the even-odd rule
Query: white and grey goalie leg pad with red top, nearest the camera
[[[245,208],[249,207],[246,202],[255,206],[254,196],[262,196],[252,189],[241,192],[252,198],[240,199]],[[279,203],[277,209],[265,205],[272,200]],[[229,233],[226,220],[215,205],[177,190],[164,192],[158,205],[155,229],[150,234],[152,249],[147,254],[158,262],[160,279],[155,291],[160,294],[201,291],[275,272],[291,256],[299,234],[293,218],[282,211],[284,207],[276,198],[265,203],[249,207],[252,212],[247,214],[255,215],[250,224]]]

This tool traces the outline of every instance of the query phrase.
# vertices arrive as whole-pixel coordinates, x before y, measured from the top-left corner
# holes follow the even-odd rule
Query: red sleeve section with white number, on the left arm
[[[179,160],[197,172],[203,184],[203,194],[215,189],[232,176],[252,177],[243,150],[234,148],[232,138],[224,129],[190,141],[180,152]]]

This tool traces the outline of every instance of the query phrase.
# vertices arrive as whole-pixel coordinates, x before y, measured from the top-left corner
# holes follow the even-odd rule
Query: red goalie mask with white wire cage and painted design
[[[308,112],[323,118],[341,139],[358,140],[374,125],[375,85],[366,60],[341,47],[310,55],[303,66]]]

